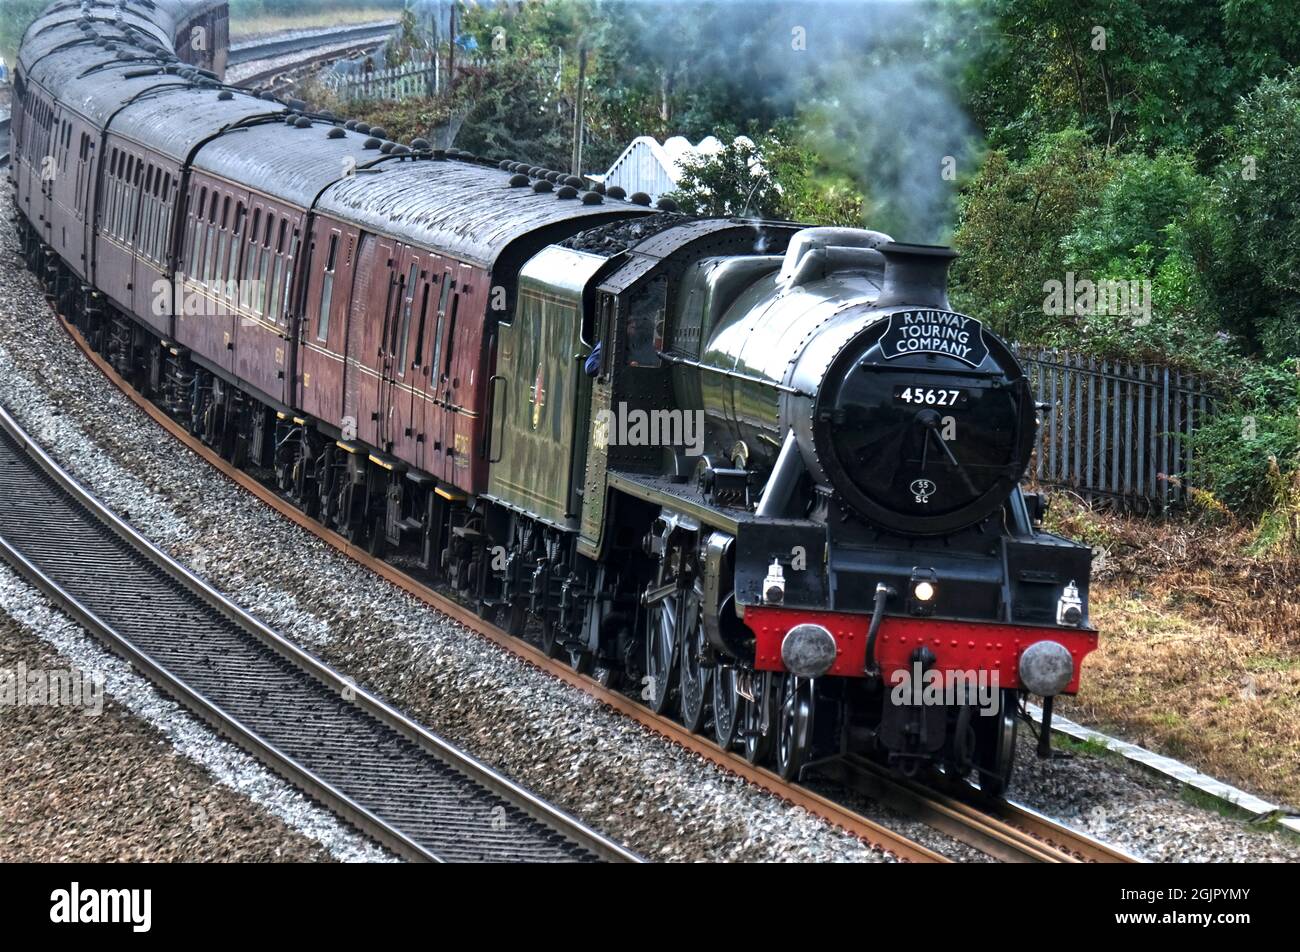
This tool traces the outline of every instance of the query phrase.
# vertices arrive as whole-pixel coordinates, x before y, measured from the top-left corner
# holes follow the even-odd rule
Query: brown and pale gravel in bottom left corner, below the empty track
[[[104,691],[81,707],[0,707],[6,862],[390,858],[160,694],[0,563],[0,668],[20,663],[27,672],[81,671]]]

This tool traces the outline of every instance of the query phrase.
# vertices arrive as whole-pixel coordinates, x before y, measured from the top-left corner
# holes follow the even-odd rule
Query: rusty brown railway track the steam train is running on
[[[703,757],[716,766],[740,775],[755,786],[801,806],[816,817],[871,843],[885,852],[913,862],[948,862],[932,849],[910,840],[867,817],[863,817],[833,799],[822,796],[803,786],[783,780],[775,773],[751,765],[740,754],[723,750],[712,740],[696,735],[671,718],[658,715],[619,691],[572,670],[568,665],[550,658],[529,642],[502,628],[489,624],[473,611],[445,596],[398,567],[378,559],[363,548],[354,546],[343,536],[324,527],[282,498],[270,486],[251,473],[233,467],[203,441],[198,440],[173,420],[159,406],[135,390],[82,338],[81,333],[61,315],[57,320],[75,345],[96,367],[136,406],[148,414],[173,437],[220,469],[231,481],[251,492],[308,532],[361,563],[391,584],[425,602],[430,607],[460,622],[480,636],[521,657],[533,666],[577,687],[608,707],[637,721],[670,741]],[[1122,851],[1071,830],[1028,808],[1015,804],[982,806],[946,796],[920,784],[909,784],[893,778],[864,760],[845,763],[835,779],[864,791],[898,812],[913,815],[928,826],[966,843],[993,858],[1006,862],[1136,862]],[[833,773],[833,771],[832,771]]]

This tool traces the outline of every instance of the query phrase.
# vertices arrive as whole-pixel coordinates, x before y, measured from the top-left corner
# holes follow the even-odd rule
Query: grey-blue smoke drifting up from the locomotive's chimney
[[[866,192],[871,228],[945,239],[976,131],[961,77],[980,36],[974,4],[939,0],[604,0],[632,36],[629,69],[656,69],[688,101],[725,98],[770,126],[797,117],[810,144]],[[703,103],[703,114],[716,114]],[[676,133],[698,127],[688,108]],[[758,131],[758,130],[749,130]]]

